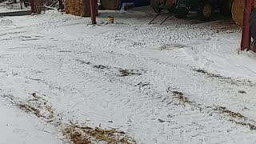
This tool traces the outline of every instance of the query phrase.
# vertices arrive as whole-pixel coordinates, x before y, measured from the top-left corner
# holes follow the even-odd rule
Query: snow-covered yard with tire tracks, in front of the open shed
[[[256,55],[238,54],[240,31],[149,13],[1,18],[0,143],[66,143],[69,122],[138,143],[255,143]]]

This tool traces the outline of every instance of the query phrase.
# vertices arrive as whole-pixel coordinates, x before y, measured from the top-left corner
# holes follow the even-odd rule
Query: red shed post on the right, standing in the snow
[[[242,25],[242,42],[241,50],[250,50],[250,29],[249,19],[252,8],[254,7],[254,0],[245,0],[245,10],[243,13],[243,25]]]

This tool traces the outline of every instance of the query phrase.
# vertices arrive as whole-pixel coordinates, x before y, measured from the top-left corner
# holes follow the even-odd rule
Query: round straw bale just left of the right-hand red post
[[[256,0],[254,0],[254,6],[256,6]],[[245,0],[234,0],[232,6],[232,18],[238,26],[242,26],[243,12],[245,7]]]

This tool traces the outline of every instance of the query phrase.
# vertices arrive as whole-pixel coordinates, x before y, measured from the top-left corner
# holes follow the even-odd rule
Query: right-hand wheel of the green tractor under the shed
[[[198,9],[198,17],[202,21],[207,21],[214,13],[214,7],[209,2],[202,2]]]

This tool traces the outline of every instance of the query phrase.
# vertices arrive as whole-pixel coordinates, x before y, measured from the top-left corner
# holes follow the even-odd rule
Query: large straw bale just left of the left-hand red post
[[[65,0],[66,14],[90,17],[90,0]]]

